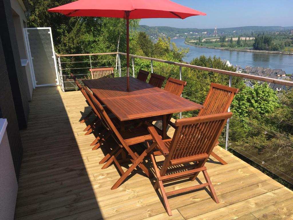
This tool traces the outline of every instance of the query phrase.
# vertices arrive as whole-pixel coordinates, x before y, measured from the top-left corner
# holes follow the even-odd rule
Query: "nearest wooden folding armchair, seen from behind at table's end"
[[[156,174],[154,188],[156,190],[160,188],[163,202],[169,216],[172,215],[167,199],[167,196],[170,195],[209,187],[212,198],[216,203],[219,203],[219,199],[207,173],[207,168],[204,165],[209,158],[227,119],[231,116],[232,113],[227,112],[178,119],[175,122],[176,129],[174,136],[169,140],[162,140],[153,127],[148,128],[153,137],[154,143],[149,146],[144,154],[153,152],[153,149],[157,148],[165,157],[163,165],[159,170],[154,153],[151,153],[150,155]],[[141,156],[137,159],[137,162],[139,162],[140,158]],[[187,178],[193,181],[199,172],[203,172],[206,183],[183,189],[175,189],[171,192],[165,191],[164,183]]]

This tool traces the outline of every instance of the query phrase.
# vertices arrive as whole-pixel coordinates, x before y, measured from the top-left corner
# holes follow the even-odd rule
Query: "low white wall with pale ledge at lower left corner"
[[[0,119],[0,219],[12,220],[18,184],[6,133],[6,119]]]

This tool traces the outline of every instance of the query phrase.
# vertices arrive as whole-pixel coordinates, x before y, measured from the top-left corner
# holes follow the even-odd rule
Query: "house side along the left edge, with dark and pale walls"
[[[19,130],[27,127],[33,92],[23,33],[29,15],[27,0],[0,1],[0,219],[14,216],[23,155]]]

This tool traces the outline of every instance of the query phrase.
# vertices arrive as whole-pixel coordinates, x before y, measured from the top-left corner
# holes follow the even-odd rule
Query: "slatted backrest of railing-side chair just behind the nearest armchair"
[[[205,108],[201,109],[197,116],[227,112],[235,94],[239,92],[239,89],[221,84],[211,83],[210,86],[203,103]]]

